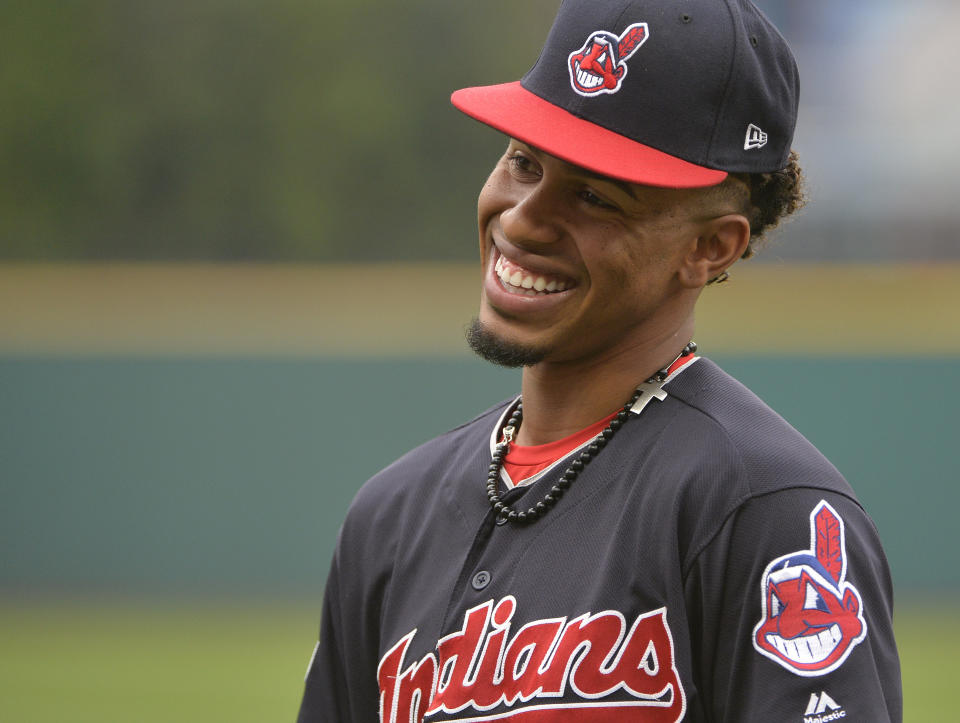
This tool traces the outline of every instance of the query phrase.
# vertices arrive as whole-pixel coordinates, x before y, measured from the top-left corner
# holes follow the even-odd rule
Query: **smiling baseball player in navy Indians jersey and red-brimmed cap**
[[[509,138],[467,336],[520,394],[358,493],[301,722],[901,720],[872,522],[692,341],[802,204],[797,87],[747,0],[567,0],[454,94]]]

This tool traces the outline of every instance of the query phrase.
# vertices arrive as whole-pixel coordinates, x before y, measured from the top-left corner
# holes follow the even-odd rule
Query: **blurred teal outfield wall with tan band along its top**
[[[319,599],[350,498],[514,394],[472,266],[0,266],[0,590]],[[851,481],[899,595],[960,591],[960,267],[750,266],[701,350]],[[479,489],[479,488],[478,488]]]

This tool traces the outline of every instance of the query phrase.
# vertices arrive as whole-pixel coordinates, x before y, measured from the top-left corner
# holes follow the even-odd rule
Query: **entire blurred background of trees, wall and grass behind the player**
[[[893,570],[907,720],[952,721],[960,11],[759,3],[810,208],[701,302]],[[469,357],[474,204],[556,0],[4,5],[0,720],[282,721],[357,487],[515,392]],[[906,38],[922,47],[904,52]]]

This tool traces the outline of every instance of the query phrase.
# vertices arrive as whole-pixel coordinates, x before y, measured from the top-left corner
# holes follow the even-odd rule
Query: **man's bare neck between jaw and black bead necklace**
[[[547,444],[579,432],[624,404],[641,382],[668,366],[693,336],[692,319],[674,333],[588,364],[525,367],[517,443]]]

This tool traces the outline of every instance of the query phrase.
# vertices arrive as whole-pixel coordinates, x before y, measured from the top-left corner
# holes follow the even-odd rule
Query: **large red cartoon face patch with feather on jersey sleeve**
[[[753,647],[797,675],[829,673],[866,637],[860,593],[846,580],[843,520],[826,500],[810,513],[810,549],[767,565]]]

